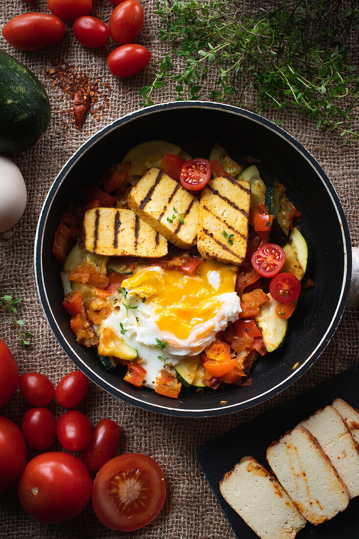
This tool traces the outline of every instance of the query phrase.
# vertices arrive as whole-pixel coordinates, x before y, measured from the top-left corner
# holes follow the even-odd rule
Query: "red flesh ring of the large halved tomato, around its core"
[[[131,474],[139,471],[146,488],[144,492],[144,507],[141,509],[129,508],[122,512],[111,490],[115,485],[110,481],[122,472]],[[133,531],[146,526],[153,520],[163,507],[166,496],[165,479],[157,462],[147,455],[138,453],[125,453],[115,457],[100,469],[92,487],[92,506],[96,516],[108,528],[121,531]],[[131,510],[132,509],[132,510]]]

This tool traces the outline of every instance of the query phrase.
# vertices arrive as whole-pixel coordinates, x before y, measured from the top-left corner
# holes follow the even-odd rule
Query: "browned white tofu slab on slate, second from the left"
[[[273,442],[267,449],[267,461],[309,522],[320,524],[347,507],[347,487],[307,429],[296,427]]]

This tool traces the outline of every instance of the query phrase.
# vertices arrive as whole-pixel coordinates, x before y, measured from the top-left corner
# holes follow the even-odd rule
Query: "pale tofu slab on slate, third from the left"
[[[299,425],[308,429],[346,484],[351,498],[359,494],[359,451],[348,425],[333,406],[317,410]]]

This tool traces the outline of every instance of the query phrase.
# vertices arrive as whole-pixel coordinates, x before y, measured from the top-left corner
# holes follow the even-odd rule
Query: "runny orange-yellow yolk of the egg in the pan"
[[[149,267],[122,282],[130,296],[146,298],[158,328],[185,339],[211,320],[221,305],[220,294],[234,292],[236,272],[215,260],[203,261],[195,275],[178,269]]]

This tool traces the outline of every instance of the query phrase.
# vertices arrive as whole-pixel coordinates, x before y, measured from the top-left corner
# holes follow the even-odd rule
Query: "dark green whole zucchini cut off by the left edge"
[[[50,121],[45,88],[4,51],[0,51],[0,111],[0,154],[29,150],[43,137]]]

